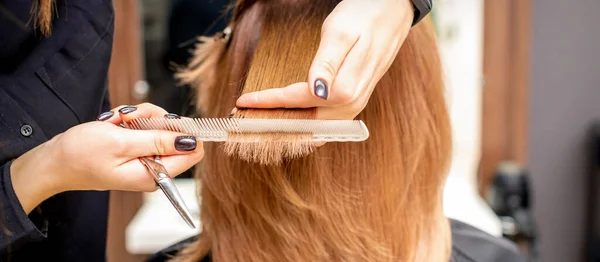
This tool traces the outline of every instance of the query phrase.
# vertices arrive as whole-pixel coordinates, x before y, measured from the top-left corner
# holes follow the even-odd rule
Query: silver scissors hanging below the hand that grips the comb
[[[181,215],[183,220],[191,228],[196,228],[194,222],[192,222],[192,216],[190,215],[190,211],[185,205],[185,202],[183,202],[183,198],[179,194],[179,190],[177,190],[177,187],[175,187],[173,179],[171,179],[169,173],[167,173],[167,170],[160,162],[160,157],[155,156],[154,159],[140,157],[139,159],[142,162],[142,164],[144,164],[146,168],[148,168],[157,186],[160,187],[163,193],[165,193],[165,195],[167,196],[171,204],[175,207],[179,215]]]

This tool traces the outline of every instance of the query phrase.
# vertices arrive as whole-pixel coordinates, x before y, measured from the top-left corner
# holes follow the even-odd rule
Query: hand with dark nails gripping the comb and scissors
[[[24,211],[29,214],[44,200],[65,191],[155,191],[154,180],[139,157],[161,156],[172,177],[200,162],[204,156],[200,141],[192,151],[175,148],[176,137],[186,134],[118,126],[124,120],[165,114],[162,108],[141,104],[127,115],[115,113],[102,122],[72,127],[15,159],[10,170],[12,185]]]

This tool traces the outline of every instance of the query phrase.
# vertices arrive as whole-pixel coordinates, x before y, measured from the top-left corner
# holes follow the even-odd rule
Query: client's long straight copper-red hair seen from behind
[[[202,115],[227,117],[242,93],[305,82],[338,2],[238,1],[228,42],[203,43],[180,74],[197,89]],[[367,141],[312,148],[302,135],[272,135],[268,143],[207,144],[197,174],[203,232],[179,259],[447,260],[442,191],[451,137],[436,45],[430,21],[411,29],[357,117]],[[317,114],[244,109],[233,117]]]

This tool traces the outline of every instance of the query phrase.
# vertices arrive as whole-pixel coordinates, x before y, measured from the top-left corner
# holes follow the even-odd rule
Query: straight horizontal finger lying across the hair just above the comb
[[[236,106],[246,108],[309,108],[326,104],[312,94],[306,82],[246,93],[236,102]]]

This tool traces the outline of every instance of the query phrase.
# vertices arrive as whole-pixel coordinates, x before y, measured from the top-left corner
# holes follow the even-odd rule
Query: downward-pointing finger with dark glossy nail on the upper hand
[[[359,34],[348,31],[341,19],[326,21],[321,32],[321,42],[308,73],[311,94],[328,100],[329,88],[335,85],[346,56],[359,39]]]

